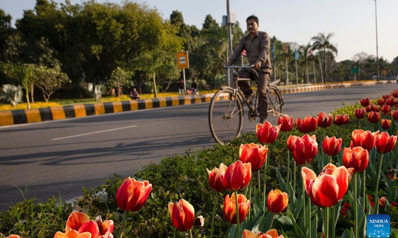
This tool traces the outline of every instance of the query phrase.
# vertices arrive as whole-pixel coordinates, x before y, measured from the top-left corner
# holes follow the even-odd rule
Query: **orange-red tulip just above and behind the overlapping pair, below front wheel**
[[[252,171],[258,171],[267,159],[268,148],[254,143],[240,145],[239,158],[243,163],[250,163]]]

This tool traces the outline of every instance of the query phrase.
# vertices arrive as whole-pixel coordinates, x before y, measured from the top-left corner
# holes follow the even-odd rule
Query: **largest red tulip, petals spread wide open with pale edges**
[[[337,168],[332,164],[326,165],[318,177],[312,170],[302,167],[301,176],[311,202],[320,207],[331,207],[340,201],[347,192],[350,177],[344,166]]]

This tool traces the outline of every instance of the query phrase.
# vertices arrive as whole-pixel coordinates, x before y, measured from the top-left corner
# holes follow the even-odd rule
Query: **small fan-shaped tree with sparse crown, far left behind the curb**
[[[70,83],[68,75],[61,72],[59,68],[48,68],[46,66],[38,66],[34,69],[35,85],[43,93],[45,102],[47,103],[57,89],[62,88],[65,83]]]

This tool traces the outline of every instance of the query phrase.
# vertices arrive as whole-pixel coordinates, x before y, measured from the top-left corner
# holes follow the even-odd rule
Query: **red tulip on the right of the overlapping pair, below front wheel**
[[[228,190],[237,191],[249,184],[252,177],[250,163],[242,163],[242,161],[235,161],[225,171],[224,185]]]

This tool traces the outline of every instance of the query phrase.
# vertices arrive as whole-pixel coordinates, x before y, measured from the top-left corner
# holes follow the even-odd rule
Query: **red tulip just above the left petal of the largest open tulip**
[[[311,137],[308,134],[298,137],[293,144],[293,153],[296,163],[305,165],[311,163],[318,153],[318,143],[316,142],[315,135]]]

